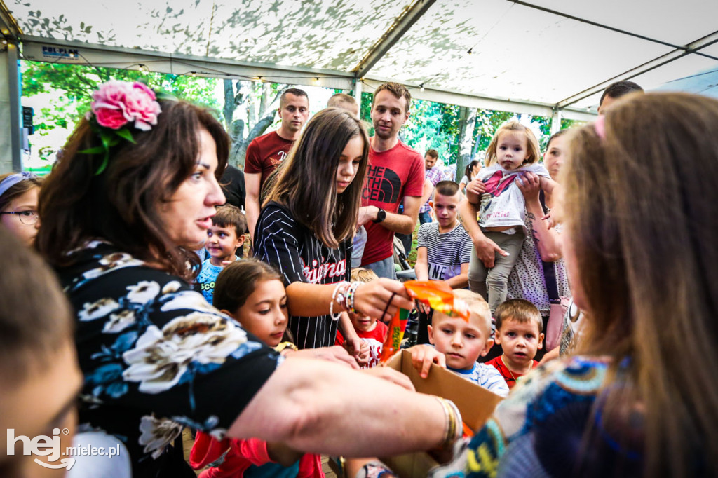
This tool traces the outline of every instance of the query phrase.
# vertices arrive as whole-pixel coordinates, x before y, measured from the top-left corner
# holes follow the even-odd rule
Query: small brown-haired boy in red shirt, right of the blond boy
[[[496,307],[496,343],[503,354],[486,362],[493,365],[506,380],[508,388],[538,365],[533,357],[544,342],[544,322],[531,302],[510,299]]]

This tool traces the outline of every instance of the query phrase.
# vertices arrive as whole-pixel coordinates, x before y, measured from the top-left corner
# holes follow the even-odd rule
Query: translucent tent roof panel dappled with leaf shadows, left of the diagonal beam
[[[98,0],[78,11],[52,0],[11,5],[24,34],[155,52],[349,71],[409,0],[213,4]]]

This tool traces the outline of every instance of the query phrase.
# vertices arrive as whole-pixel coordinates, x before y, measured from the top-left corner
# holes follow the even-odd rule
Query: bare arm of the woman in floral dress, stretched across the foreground
[[[229,436],[281,441],[309,453],[387,456],[439,445],[446,423],[432,395],[330,362],[289,357]]]

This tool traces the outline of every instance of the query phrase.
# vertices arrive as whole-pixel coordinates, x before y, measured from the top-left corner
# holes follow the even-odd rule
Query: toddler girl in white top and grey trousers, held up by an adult
[[[486,150],[485,168],[472,181],[475,187],[467,187],[467,200],[480,205],[480,233],[505,253],[497,254],[493,267],[487,267],[472,250],[469,286],[487,299],[492,312],[506,299],[508,275],[526,235],[526,202],[516,179],[523,172],[531,172],[540,177],[542,189],[550,191],[555,184],[546,168],[538,164],[540,157],[538,141],[531,129],[516,120],[508,121],[498,128],[491,140]],[[472,217],[463,219],[465,223],[475,220]]]

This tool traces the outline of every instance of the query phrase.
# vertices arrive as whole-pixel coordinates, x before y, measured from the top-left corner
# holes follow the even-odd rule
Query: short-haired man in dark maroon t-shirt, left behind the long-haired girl
[[[294,141],[299,138],[302,126],[309,118],[309,97],[299,88],[284,90],[279,98],[279,116],[281,125],[272,131],[252,140],[247,147],[244,164],[244,182],[247,189],[245,210],[249,233],[254,238],[254,226],[259,217],[259,192],[262,184],[284,161]]]

